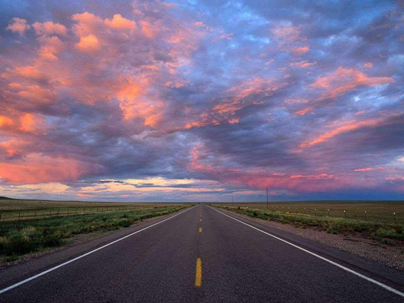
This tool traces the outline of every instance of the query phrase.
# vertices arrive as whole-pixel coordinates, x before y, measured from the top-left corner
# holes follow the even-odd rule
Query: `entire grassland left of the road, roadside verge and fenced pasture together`
[[[102,234],[128,227],[139,220],[179,211],[191,204],[19,200],[13,205],[13,201],[3,200],[0,205],[3,215],[6,214],[6,219],[2,218],[0,222],[0,262],[4,262],[69,243],[76,234]],[[76,209],[80,211],[76,213]]]

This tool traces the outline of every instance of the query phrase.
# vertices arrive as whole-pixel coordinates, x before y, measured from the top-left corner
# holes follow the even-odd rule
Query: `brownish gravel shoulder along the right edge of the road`
[[[267,221],[258,218],[248,217],[239,213],[234,213],[226,209],[220,209],[232,216],[239,216],[252,222],[261,225],[269,226],[277,230],[282,230],[290,234],[295,234],[303,238],[346,251],[353,255],[370,259],[393,267],[398,270],[404,271],[404,242],[396,241],[394,245],[380,244],[379,242],[371,239],[364,238],[360,233],[347,233],[347,234],[327,234],[324,231],[316,230],[313,227],[299,228],[291,224],[282,224],[274,221]]]

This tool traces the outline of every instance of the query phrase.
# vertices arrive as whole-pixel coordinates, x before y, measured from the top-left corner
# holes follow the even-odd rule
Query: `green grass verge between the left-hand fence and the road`
[[[1,222],[0,255],[3,255],[2,261],[15,260],[27,253],[61,246],[75,234],[117,230],[136,221],[166,215],[187,206],[189,205]]]

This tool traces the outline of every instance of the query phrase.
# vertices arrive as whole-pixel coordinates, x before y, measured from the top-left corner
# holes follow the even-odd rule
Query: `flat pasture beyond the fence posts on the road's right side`
[[[221,205],[222,203],[213,204]],[[231,206],[232,204],[223,203],[223,205]],[[266,203],[234,203],[234,206],[267,209]],[[404,201],[277,202],[268,203],[268,210],[275,213],[302,214],[314,217],[345,218],[364,221],[368,220],[371,222],[404,225]]]

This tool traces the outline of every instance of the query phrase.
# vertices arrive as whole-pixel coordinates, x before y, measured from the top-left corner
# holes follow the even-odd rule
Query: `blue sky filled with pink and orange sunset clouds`
[[[0,1],[0,195],[404,199],[404,1]]]

